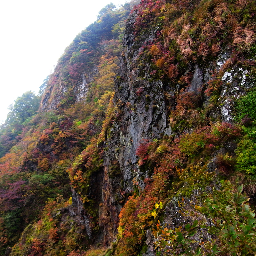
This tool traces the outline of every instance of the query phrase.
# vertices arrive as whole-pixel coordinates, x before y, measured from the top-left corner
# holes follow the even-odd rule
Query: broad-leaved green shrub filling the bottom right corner
[[[213,220],[214,225],[208,231],[218,236],[218,250],[231,255],[251,255],[256,251],[255,213],[242,191],[242,185],[235,192],[230,182],[222,182],[222,188],[200,208],[200,212]]]

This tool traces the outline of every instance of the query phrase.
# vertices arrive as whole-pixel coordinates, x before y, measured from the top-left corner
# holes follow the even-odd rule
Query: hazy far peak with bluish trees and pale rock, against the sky
[[[98,20],[76,36],[65,49],[50,76],[41,111],[61,111],[86,98],[88,88],[98,74],[100,57],[111,51],[109,41],[118,39],[122,34],[124,19],[130,13],[130,6],[131,4],[127,3],[116,10],[115,5],[108,4],[100,11]],[[118,55],[115,46],[112,48],[112,55]]]

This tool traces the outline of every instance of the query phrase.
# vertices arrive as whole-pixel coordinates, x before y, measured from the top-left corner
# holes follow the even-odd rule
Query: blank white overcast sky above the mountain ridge
[[[0,123],[24,92],[38,93],[75,36],[109,3],[126,0],[2,0],[0,3]]]

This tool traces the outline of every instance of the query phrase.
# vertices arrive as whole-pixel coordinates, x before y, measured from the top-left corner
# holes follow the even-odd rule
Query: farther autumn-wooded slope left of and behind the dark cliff
[[[71,187],[72,166],[76,165],[76,157],[91,143],[90,140],[101,132],[122,49],[119,38],[122,38],[124,19],[133,5],[127,3],[116,9],[109,4],[103,8],[98,20],[75,38],[61,56],[54,73],[45,80],[39,114],[35,115],[34,104],[34,116],[26,117],[25,122],[21,120],[19,127],[6,121],[5,126],[12,135],[8,138],[12,145],[15,142],[16,145],[4,148],[10,151],[0,160],[1,255],[8,246],[18,242],[24,228],[24,248],[12,250],[12,254],[37,255],[54,248],[56,254],[65,249],[67,255],[83,241],[85,247],[91,244],[87,238],[83,239],[91,237],[91,227],[87,225],[87,217],[83,216],[81,197]],[[69,206],[72,198],[73,205]],[[61,236],[54,235],[56,222],[49,217],[55,207],[62,208],[61,215],[58,215],[65,223]],[[43,225],[37,239],[38,231],[33,234],[35,227],[31,225],[38,220],[39,223],[43,221]],[[81,233],[80,242],[69,230],[74,223]],[[30,236],[28,241],[26,236]],[[57,247],[56,237],[62,240],[65,237],[63,244]],[[51,242],[45,243],[48,238]],[[37,251],[33,246],[47,248]]]

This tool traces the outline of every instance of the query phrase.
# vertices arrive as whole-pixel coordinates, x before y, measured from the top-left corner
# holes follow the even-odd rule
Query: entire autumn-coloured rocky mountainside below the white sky
[[[1,128],[0,255],[254,255],[255,13],[105,6]]]

